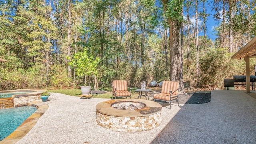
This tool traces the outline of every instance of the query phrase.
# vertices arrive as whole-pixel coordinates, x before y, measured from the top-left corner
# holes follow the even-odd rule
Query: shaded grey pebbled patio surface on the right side
[[[245,90],[213,90],[211,102],[182,106],[152,144],[256,144],[255,118]]]

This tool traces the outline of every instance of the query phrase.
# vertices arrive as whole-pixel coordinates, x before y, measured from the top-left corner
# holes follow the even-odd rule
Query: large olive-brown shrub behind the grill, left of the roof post
[[[243,75],[245,62],[231,59],[227,49],[218,48],[208,51],[200,58],[200,86],[224,88],[224,78]]]

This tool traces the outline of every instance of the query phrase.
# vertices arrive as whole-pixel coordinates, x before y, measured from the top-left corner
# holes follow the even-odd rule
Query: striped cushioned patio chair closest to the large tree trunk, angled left
[[[172,82],[172,81],[164,81],[162,84],[161,93],[154,94],[154,101],[161,100],[169,102],[171,109],[171,102],[172,100],[176,100],[178,102],[179,106],[179,83],[178,82]]]

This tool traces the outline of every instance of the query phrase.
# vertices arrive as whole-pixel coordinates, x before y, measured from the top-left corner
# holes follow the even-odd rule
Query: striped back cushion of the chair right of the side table
[[[174,91],[179,88],[178,82],[164,81],[162,84],[161,93],[170,94],[170,90]],[[178,95],[178,90],[176,92],[172,92],[172,94]]]

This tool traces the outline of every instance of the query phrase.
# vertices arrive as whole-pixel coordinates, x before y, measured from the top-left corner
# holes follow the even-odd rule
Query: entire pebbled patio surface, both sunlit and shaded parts
[[[253,92],[253,91],[252,91]],[[254,144],[256,99],[244,90],[213,90],[211,102],[162,104],[162,123],[144,132],[115,132],[96,122],[96,104],[52,93],[48,110],[16,144]]]

